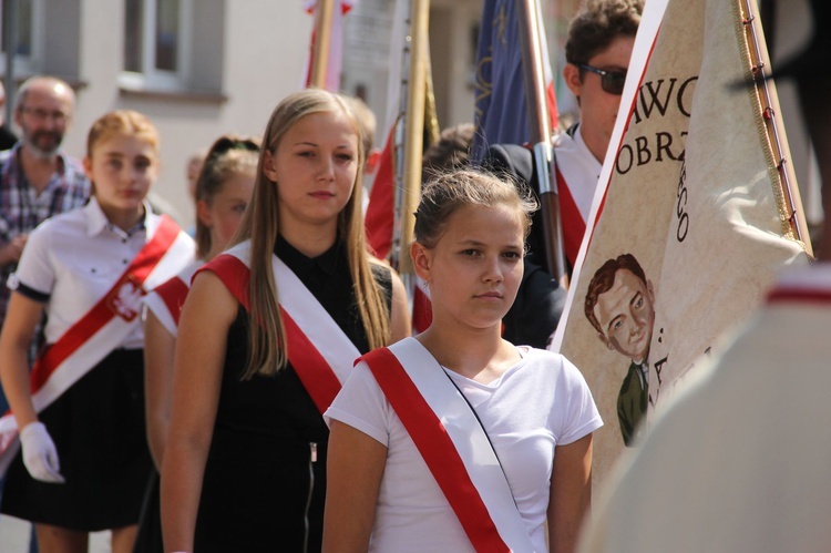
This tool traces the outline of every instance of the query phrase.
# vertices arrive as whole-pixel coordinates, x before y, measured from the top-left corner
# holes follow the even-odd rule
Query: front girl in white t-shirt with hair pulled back
[[[574,549],[599,414],[565,358],[501,338],[535,207],[472,171],[424,188],[410,254],[432,325],[365,356],[326,412],[325,551]]]

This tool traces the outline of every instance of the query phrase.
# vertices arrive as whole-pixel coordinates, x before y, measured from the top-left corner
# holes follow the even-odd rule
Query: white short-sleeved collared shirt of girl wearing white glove
[[[125,233],[92,197],[84,207],[44,221],[29,236],[9,288],[47,304],[47,344],[54,344],[115,285],[156,232],[161,217],[144,203],[144,219]],[[144,347],[135,328],[113,349]]]

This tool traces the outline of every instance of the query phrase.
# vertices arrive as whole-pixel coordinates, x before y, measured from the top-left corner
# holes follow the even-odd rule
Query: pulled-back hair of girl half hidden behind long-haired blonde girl
[[[236,174],[255,174],[259,157],[259,139],[234,134],[219,136],[204,157],[196,178],[196,201],[213,204],[223,185]],[[213,246],[211,228],[196,217],[196,257],[205,259]]]

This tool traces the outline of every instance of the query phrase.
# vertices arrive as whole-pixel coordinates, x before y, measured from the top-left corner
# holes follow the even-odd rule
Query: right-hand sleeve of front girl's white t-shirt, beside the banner
[[[592,397],[583,373],[568,359],[560,356],[563,378],[560,379],[558,396],[563,399],[562,419],[557,446],[573,443],[603,426],[603,419]]]

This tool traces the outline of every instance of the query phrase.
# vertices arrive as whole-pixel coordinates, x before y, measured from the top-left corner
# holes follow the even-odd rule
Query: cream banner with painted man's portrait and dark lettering
[[[758,18],[746,12],[752,3],[646,4],[617,147],[552,344],[581,368],[606,421],[595,436],[598,481],[697,358],[758,307],[776,274],[811,256],[791,225],[802,209],[796,177],[779,163],[790,158],[783,127],[771,141],[781,124],[776,89],[753,84],[759,59],[745,20],[757,25],[757,58],[767,52]]]

